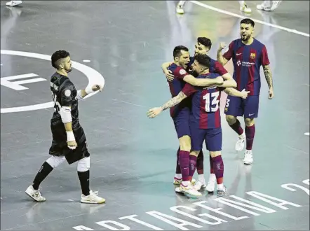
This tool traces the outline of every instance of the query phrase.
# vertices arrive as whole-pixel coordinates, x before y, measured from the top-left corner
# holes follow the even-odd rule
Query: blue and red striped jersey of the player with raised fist
[[[248,95],[260,95],[260,66],[269,65],[266,46],[254,38],[250,45],[242,43],[241,38],[232,41],[223,57],[234,63],[234,80],[237,90],[250,91]]]

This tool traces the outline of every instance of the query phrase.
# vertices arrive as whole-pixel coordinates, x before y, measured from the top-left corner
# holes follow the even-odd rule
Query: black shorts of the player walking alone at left
[[[77,147],[74,150],[67,146],[67,134],[63,123],[51,125],[50,129],[53,134],[53,141],[49,151],[50,155],[65,156],[69,165],[90,156],[87,149],[86,136],[81,125],[74,127],[73,129],[77,144]]]

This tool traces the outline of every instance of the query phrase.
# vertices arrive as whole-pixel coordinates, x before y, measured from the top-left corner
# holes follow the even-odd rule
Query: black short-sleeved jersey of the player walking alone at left
[[[50,77],[50,90],[54,101],[54,113],[51,119],[52,125],[62,123],[60,116],[60,108],[62,106],[71,107],[72,128],[79,127],[79,109],[78,100],[76,99],[76,89],[74,84],[67,76],[62,76],[60,73],[54,73]]]

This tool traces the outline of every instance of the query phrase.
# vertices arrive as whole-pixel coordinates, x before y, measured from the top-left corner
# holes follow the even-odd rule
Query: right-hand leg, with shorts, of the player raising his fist
[[[252,146],[255,137],[255,118],[258,116],[260,97],[251,95],[245,99],[244,122],[245,122],[245,137],[246,148],[243,163],[251,165],[253,162]]]

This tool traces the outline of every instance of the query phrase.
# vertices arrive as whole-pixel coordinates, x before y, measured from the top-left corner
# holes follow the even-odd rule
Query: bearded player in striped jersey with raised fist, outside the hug
[[[261,86],[260,66],[263,66],[269,86],[269,99],[274,97],[274,85],[272,83],[267,49],[264,44],[253,38],[254,25],[255,23],[249,18],[241,20],[241,38],[232,41],[229,44],[229,49],[224,55],[222,55],[222,49],[225,47],[224,43],[220,43],[220,48],[217,50],[217,61],[223,66],[227,64],[229,59],[233,59],[234,79],[237,82],[237,89],[250,91],[247,99],[234,96],[227,97],[224,110],[229,126],[238,134],[236,151],[243,150],[246,138],[246,150],[243,159],[245,165],[251,165],[253,162],[252,144],[255,135],[254,118],[258,116]],[[245,132],[237,116],[244,117]]]

